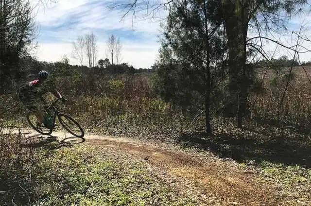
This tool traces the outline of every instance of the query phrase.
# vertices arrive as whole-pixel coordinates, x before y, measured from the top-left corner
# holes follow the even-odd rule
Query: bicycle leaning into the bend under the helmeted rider
[[[32,128],[35,129],[38,133],[42,135],[51,135],[52,131],[55,129],[55,122],[56,122],[56,117],[59,121],[59,123],[73,136],[75,137],[84,137],[85,133],[80,124],[71,118],[69,115],[64,114],[55,108],[55,104],[59,101],[62,100],[61,98],[58,98],[56,101],[54,101],[50,106],[44,106],[45,109],[45,118],[47,117],[52,117],[52,121],[48,123],[44,123],[44,126],[38,127],[36,126],[37,118],[34,113],[29,112],[27,113],[27,121],[30,124]],[[53,114],[53,115],[52,115]],[[67,123],[68,122],[68,123]],[[35,124],[34,124],[35,123]],[[70,125],[75,126],[75,128],[70,129]],[[79,131],[78,134],[76,132]]]

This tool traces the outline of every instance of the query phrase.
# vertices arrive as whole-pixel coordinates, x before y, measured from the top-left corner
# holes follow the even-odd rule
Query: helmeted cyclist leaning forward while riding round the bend
[[[56,90],[55,86],[52,85],[51,81],[47,81],[50,76],[47,71],[41,70],[38,72],[37,76],[37,79],[20,88],[18,98],[30,112],[35,113],[37,118],[36,126],[41,128],[44,120],[43,106],[46,104],[42,95],[52,92],[56,98],[60,98],[63,101],[65,101],[65,99]]]

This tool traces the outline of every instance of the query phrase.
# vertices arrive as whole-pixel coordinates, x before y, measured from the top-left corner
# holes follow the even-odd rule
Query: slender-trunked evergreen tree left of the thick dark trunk
[[[175,0],[164,28],[160,59],[156,64],[157,89],[167,101],[204,110],[211,133],[210,106],[213,80],[224,55],[217,1]],[[212,67],[214,65],[214,67]],[[216,67],[217,69],[216,69]]]

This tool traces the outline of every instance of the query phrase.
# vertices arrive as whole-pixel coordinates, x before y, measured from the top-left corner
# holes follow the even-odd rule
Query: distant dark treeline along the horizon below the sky
[[[159,68],[159,64],[155,63],[151,68],[134,68],[133,66],[129,65],[128,63],[121,63],[121,64],[111,64],[109,59],[100,59],[97,63],[97,66],[89,68],[87,66],[81,65],[71,65],[69,59],[64,56],[60,61],[57,62],[46,62],[46,61],[37,61],[32,57],[22,58],[20,60],[23,66],[21,69],[22,73],[25,75],[34,75],[38,70],[47,70],[52,72],[54,75],[57,76],[70,76],[75,73],[83,73],[83,74],[134,74],[134,73],[152,73],[158,72],[158,76],[161,76],[161,69]],[[178,65],[177,63],[175,66]],[[248,67],[271,67],[271,68],[283,68],[283,67],[296,67],[296,66],[310,66],[311,61],[308,62],[301,62],[301,64],[293,59],[288,59],[287,56],[282,56],[278,59],[272,59],[270,61],[261,60],[254,64],[249,64]],[[172,65],[173,67],[173,65]],[[211,67],[211,69],[215,69]],[[215,71],[216,72],[216,71]],[[225,72],[225,71],[224,71]],[[191,72],[194,74],[193,72]],[[168,74],[165,74],[168,75]],[[180,74],[183,75],[183,74]],[[218,74],[219,78],[221,78],[221,73]],[[172,82],[171,82],[172,83]],[[182,82],[181,82],[182,83]],[[202,83],[203,84],[203,83]],[[175,90],[175,89],[171,89]],[[172,94],[170,95],[172,96]]]

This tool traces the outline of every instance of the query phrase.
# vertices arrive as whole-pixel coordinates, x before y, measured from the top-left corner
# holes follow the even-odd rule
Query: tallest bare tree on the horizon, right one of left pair
[[[86,34],[84,37],[85,42],[85,53],[88,60],[89,68],[95,67],[96,59],[97,59],[97,38],[95,34],[90,33]]]

